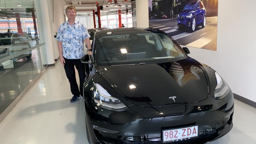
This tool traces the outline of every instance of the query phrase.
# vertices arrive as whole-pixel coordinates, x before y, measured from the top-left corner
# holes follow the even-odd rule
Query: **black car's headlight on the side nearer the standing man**
[[[111,111],[124,111],[128,109],[121,100],[111,96],[100,84],[95,83],[96,91],[93,92],[94,102],[98,107]]]

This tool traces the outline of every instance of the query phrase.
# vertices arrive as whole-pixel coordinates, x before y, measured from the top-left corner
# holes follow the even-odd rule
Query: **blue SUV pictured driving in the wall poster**
[[[193,32],[198,26],[206,26],[206,9],[200,0],[187,3],[178,15],[179,28],[189,28]]]

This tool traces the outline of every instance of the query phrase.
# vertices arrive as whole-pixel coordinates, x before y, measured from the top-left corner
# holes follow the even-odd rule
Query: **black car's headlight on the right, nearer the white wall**
[[[224,96],[226,96],[226,93],[229,91],[228,84],[219,76],[217,72],[214,72],[217,85],[214,90],[214,98],[216,99],[222,99]]]

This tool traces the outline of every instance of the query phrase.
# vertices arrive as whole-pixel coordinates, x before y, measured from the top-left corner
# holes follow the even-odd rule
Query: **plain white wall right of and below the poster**
[[[256,0],[219,0],[217,51],[189,48],[240,96],[256,102]]]

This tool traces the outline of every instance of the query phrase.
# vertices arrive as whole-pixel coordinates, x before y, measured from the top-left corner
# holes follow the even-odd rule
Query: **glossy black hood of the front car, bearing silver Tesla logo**
[[[97,69],[135,105],[163,107],[195,103],[208,97],[203,66],[194,59]],[[136,88],[130,89],[132,85]]]

